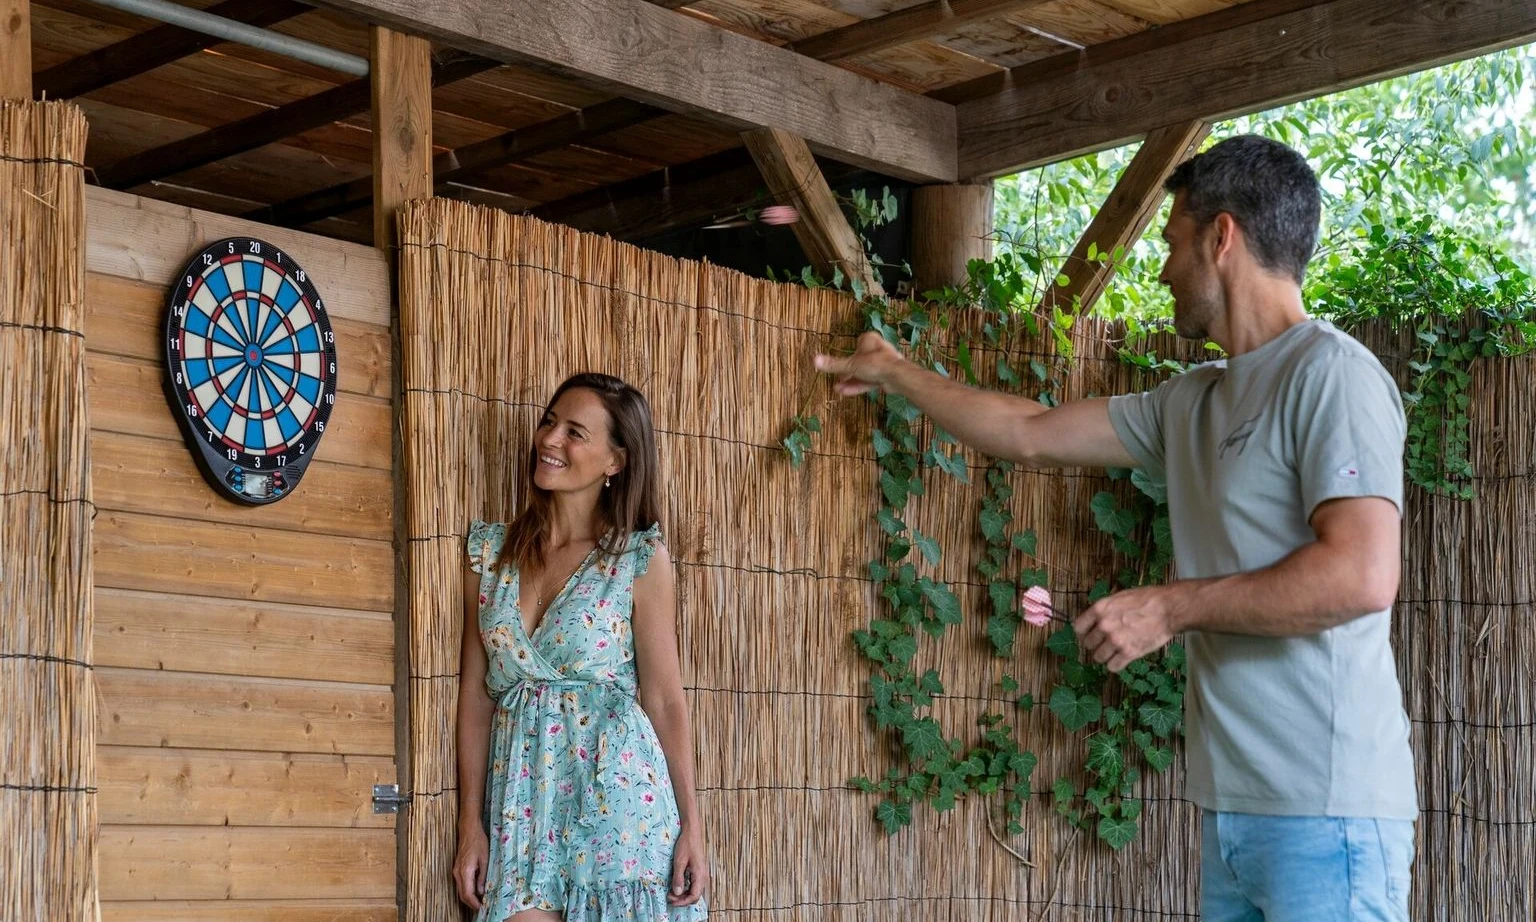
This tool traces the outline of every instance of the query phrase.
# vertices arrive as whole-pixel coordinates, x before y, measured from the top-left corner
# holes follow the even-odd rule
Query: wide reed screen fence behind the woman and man
[[[809,370],[814,352],[851,347],[859,323],[851,303],[444,200],[410,207],[401,241],[416,793],[409,919],[445,919],[455,905],[464,532],[472,518],[516,509],[518,461],[536,415],[578,370],[624,376],[656,413],[717,917],[1198,916],[1198,810],[1180,798],[1178,767],[1143,781],[1143,828],[1120,853],[1074,834],[1048,798],[1037,798],[1025,834],[1009,841],[1029,864],[994,842],[975,799],[946,814],[919,807],[914,825],[888,839],[871,819],[876,799],[846,787],[851,776],[880,776],[892,764],[865,718],[869,668],[848,639],[876,604],[865,578],[880,547],[872,415],[863,401],[829,403]],[[1092,324],[1080,332],[1068,396],[1144,384],[1103,335]],[[1014,360],[1031,347],[1038,346],[1017,344]],[[982,355],[975,366],[995,367],[995,358]],[[1482,370],[1490,400],[1479,401],[1478,426],[1498,444],[1484,444],[1478,458],[1485,498],[1462,506],[1413,493],[1405,526],[1418,539],[1398,650],[1427,804],[1421,919],[1505,917],[1481,907],[1524,907],[1519,917],[1530,917],[1531,884],[1521,868],[1530,867],[1536,828],[1536,695],[1521,653],[1531,644],[1525,605],[1536,576],[1521,518],[1530,489],[1516,472],[1531,470],[1533,436],[1519,435],[1525,441],[1516,446],[1511,423],[1527,418],[1514,389],[1528,372],[1508,363]],[[796,470],[777,443],[803,412],[819,413],[826,430]],[[986,459],[968,461],[975,479]],[[995,687],[1003,673],[1044,699],[1055,665],[1043,633],[1021,635],[1012,661],[989,653],[974,615],[986,604],[974,573],[985,547],[977,492],[938,473],[928,486],[909,519],[938,538],[937,572],[969,615],[942,642],[925,639],[915,667],[940,670],[946,695],[934,715],[948,735],[969,739],[978,715],[1006,704]],[[1017,522],[1040,535],[1057,604],[1078,610],[1111,572],[1089,512],[1109,481],[1097,470],[1020,472],[1014,486]],[[1080,764],[1081,739],[1044,707],[1021,718],[1021,728],[1041,756],[1038,791]]]

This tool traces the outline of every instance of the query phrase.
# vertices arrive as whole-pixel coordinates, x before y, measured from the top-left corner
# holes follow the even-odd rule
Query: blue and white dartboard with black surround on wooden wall
[[[209,244],[170,294],[164,344],[170,412],[214,489],[250,504],[292,493],[336,403],[313,280],[270,243]]]

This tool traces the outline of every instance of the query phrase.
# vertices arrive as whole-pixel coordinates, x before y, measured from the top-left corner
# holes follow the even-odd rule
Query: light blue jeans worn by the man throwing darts
[[[1409,922],[1413,822],[1204,811],[1204,922]]]

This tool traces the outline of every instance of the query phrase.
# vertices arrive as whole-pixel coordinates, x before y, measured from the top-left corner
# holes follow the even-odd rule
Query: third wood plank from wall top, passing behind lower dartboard
[[[91,352],[86,355],[86,376],[92,429],[184,443],[166,403],[166,370],[161,363]],[[356,393],[341,395],[332,407],[315,458],[390,470],[392,426],[389,401]],[[190,446],[180,450],[190,453]]]

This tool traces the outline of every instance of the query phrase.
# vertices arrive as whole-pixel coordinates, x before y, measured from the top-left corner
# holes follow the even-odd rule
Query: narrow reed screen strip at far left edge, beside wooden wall
[[[0,101],[0,905],[97,917],[86,120]]]

